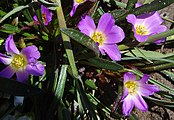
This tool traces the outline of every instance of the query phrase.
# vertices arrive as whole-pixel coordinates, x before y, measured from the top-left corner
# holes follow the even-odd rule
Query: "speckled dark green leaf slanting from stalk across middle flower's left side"
[[[99,52],[98,46],[89,36],[86,36],[85,34],[71,28],[66,28],[66,29],[61,28],[61,31],[64,34],[71,37],[73,40],[77,41],[78,43],[94,51],[94,53],[97,56],[99,56],[100,52]]]

